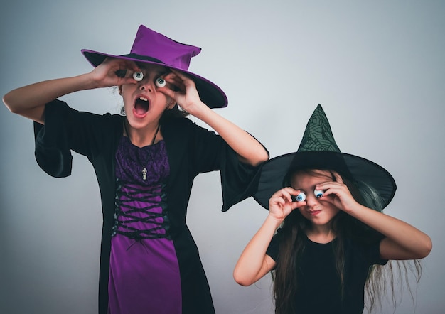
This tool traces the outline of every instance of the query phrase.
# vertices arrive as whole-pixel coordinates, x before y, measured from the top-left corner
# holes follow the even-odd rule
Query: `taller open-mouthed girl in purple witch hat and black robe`
[[[4,103],[35,121],[36,160],[46,173],[70,175],[71,151],[95,168],[103,215],[99,313],[215,313],[186,225],[193,179],[220,170],[226,211],[254,193],[267,150],[210,109],[225,107],[227,97],[188,72],[200,48],[140,26],[129,54],[82,53],[92,72],[12,90]],[[124,100],[122,115],[78,112],[57,99],[111,86]]]

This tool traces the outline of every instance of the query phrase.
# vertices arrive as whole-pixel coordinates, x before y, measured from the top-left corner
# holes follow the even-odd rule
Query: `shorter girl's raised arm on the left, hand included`
[[[238,259],[233,271],[233,278],[242,286],[250,286],[269,271],[274,269],[275,261],[266,254],[267,247],[284,218],[291,213],[299,202],[292,202],[291,195],[297,195],[293,188],[283,188],[269,200],[269,215],[250,240]]]

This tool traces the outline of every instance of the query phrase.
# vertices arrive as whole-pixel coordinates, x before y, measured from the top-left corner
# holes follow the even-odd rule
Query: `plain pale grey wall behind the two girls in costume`
[[[90,71],[82,48],[129,53],[144,24],[203,48],[190,70],[227,92],[218,113],[271,157],[296,151],[322,104],[342,151],[394,175],[386,212],[433,239],[416,305],[405,293],[396,313],[445,312],[445,1],[14,0],[0,14],[1,95]],[[109,89],[63,99],[97,113],[119,107]],[[31,121],[3,106],[0,121],[0,312],[95,313],[102,222],[92,166],[75,155],[70,178],[50,178],[34,161]],[[232,279],[267,211],[249,199],[220,212],[219,183],[218,173],[197,178],[188,215],[216,311],[272,313],[269,276],[248,288]]]

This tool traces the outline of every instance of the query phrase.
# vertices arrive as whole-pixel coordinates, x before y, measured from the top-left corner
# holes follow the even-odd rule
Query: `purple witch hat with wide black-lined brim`
[[[200,53],[201,48],[178,43],[156,31],[139,26],[132,50],[127,55],[109,55],[93,50],[82,49],[83,55],[94,66],[100,65],[105,58],[120,58],[138,63],[153,63],[181,71],[195,82],[200,99],[210,108],[227,107],[227,96],[217,85],[204,77],[188,72],[190,60]]]

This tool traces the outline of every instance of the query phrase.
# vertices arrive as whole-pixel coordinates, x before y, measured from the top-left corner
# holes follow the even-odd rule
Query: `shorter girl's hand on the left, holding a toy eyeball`
[[[275,192],[269,199],[269,216],[281,223],[292,210],[306,205],[306,202],[292,202],[291,195],[299,193],[299,190],[290,187]]]

